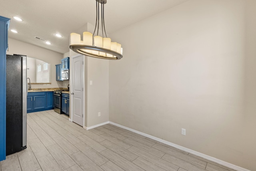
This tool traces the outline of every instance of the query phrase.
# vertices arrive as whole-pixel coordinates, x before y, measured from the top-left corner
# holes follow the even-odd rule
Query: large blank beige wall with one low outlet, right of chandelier
[[[255,7],[190,0],[111,34],[109,120],[256,170]]]

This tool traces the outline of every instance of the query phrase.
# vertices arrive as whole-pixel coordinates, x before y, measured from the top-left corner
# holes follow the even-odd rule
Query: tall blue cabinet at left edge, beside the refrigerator
[[[6,50],[10,18],[0,16],[0,161],[6,159]]]

